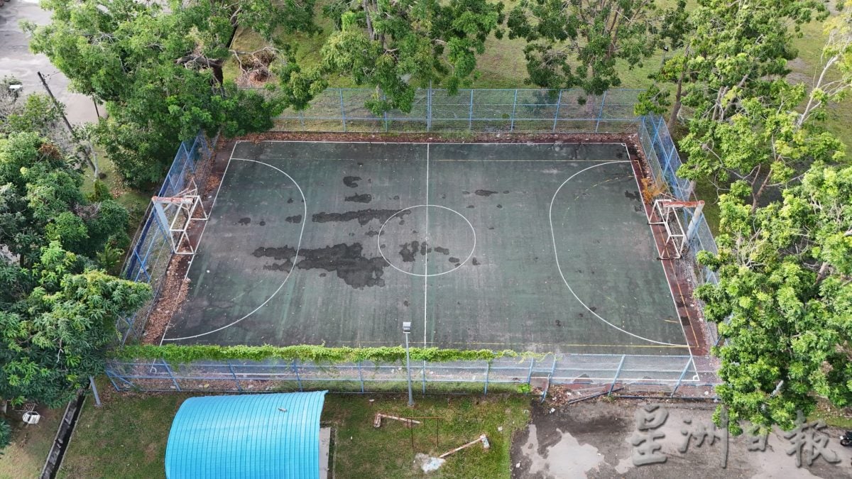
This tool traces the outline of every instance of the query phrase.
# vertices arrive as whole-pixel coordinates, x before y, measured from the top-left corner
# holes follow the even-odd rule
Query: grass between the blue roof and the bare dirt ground
[[[412,463],[414,453],[436,456],[485,433],[491,449],[476,445],[452,454],[429,477],[497,479],[510,476],[511,437],[527,424],[528,409],[529,398],[518,395],[415,397],[413,409],[406,406],[405,396],[327,395],[323,421],[336,428],[334,472],[338,478],[425,477]],[[372,427],[376,413],[440,421],[424,419],[423,425],[409,430],[399,421],[384,420],[376,429]]]

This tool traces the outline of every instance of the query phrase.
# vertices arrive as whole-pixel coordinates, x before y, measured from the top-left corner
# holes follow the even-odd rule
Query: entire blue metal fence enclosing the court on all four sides
[[[363,107],[373,90],[329,89],[307,111],[289,112],[277,118],[278,128],[325,131],[521,131],[590,133],[618,131],[637,133],[654,179],[665,182],[679,199],[690,195],[689,184],[676,175],[681,164],[663,118],[633,118],[636,92],[616,90],[600,98],[588,97],[585,104],[573,90],[462,90],[449,97],[442,90],[418,91],[412,113],[389,112],[372,116]],[[466,96],[465,96],[466,95]],[[465,100],[466,98],[466,100]],[[177,193],[194,174],[201,159],[210,157],[203,135],[191,146],[182,143],[174,164],[160,190],[161,196]],[[202,175],[203,176],[203,175]],[[688,222],[692,213],[686,211]],[[699,218],[698,234],[691,251],[717,252],[710,228]],[[133,249],[124,265],[124,277],[146,281],[155,297],[163,283],[171,251],[167,229],[146,217],[136,234]],[[717,282],[716,274],[701,268],[691,258],[695,284]],[[118,320],[123,342],[141,338],[153,303],[137,315]],[[710,337],[713,338],[713,332]],[[544,358],[493,361],[454,361],[413,364],[412,378],[423,393],[452,393],[517,389],[542,378],[545,384],[569,387],[616,385],[628,393],[709,394],[718,384],[717,362],[709,356],[653,355],[546,355]],[[406,388],[405,364],[400,362],[314,364],[302,361],[109,361],[107,376],[117,390],[207,390],[270,391],[327,389],[338,392],[384,392]],[[686,393],[686,395],[697,395]],[[545,390],[546,394],[546,390]]]

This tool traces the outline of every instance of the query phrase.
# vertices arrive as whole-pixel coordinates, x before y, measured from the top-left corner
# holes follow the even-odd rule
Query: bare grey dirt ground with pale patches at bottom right
[[[662,424],[656,429],[658,453],[665,462],[636,465],[636,418],[659,404]],[[765,450],[750,450],[748,435],[725,436],[712,425],[716,404],[711,401],[590,400],[565,407],[533,401],[532,421],[512,444],[512,477],[637,479],[728,477],[840,477],[849,476],[852,450],[840,447],[839,431],[825,430],[828,449],[839,462],[822,458],[797,467],[788,453],[789,440],[780,431],[767,439]],[[665,417],[664,417],[665,416]],[[702,429],[703,428],[703,429]],[[686,431],[686,432],[684,432]],[[703,432],[709,436],[699,442]],[[642,444],[642,443],[640,443]],[[686,447],[684,447],[686,444]],[[727,444],[727,456],[724,445]],[[753,446],[753,445],[752,445]],[[726,459],[727,458],[727,459]]]

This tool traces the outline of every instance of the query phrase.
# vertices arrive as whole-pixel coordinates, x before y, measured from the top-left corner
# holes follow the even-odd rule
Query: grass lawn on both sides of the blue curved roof
[[[87,399],[57,477],[164,477],[165,447],[181,403],[195,394],[108,394],[104,406]],[[413,430],[417,453],[444,453],[486,433],[491,449],[453,454],[429,477],[508,478],[511,436],[527,424],[530,398],[521,395],[326,395],[322,423],[336,430],[334,471],[346,477],[424,477],[413,465],[412,431],[398,421],[372,427],[377,412],[429,416]],[[439,446],[435,447],[435,423]],[[502,427],[502,431],[498,431]],[[51,439],[53,436],[51,436]],[[2,463],[0,463],[2,464]],[[39,468],[41,464],[39,464]]]

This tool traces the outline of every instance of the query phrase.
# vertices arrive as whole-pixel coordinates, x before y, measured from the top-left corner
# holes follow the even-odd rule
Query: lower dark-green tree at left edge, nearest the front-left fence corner
[[[150,297],[150,286],[119,280],[53,241],[32,269],[37,284],[0,311],[0,397],[58,407],[103,372],[115,321]]]

